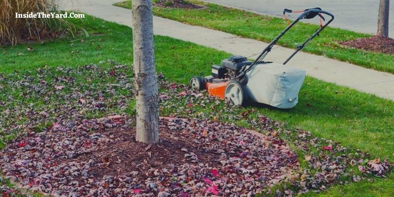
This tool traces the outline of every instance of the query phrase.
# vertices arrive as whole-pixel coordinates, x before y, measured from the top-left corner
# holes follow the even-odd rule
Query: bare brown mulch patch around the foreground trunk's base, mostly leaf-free
[[[91,174],[98,177],[122,175],[125,171],[139,171],[140,174],[146,174],[151,168],[188,164],[190,161],[184,157],[185,152],[182,149],[195,153],[204,164],[217,165],[220,157],[219,153],[196,146],[194,139],[185,136],[183,132],[171,131],[163,125],[160,127],[160,142],[155,145],[136,142],[135,128],[109,130],[105,133],[121,140],[100,148],[91,155],[78,157],[80,161],[93,159],[104,163],[90,168]]]

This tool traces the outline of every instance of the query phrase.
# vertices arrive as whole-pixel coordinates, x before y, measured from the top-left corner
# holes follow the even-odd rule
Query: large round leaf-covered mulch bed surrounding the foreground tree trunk
[[[278,137],[207,120],[160,120],[160,143],[136,142],[131,121],[84,120],[30,132],[0,152],[6,178],[54,196],[249,195],[296,179]],[[90,131],[90,128],[95,128]]]

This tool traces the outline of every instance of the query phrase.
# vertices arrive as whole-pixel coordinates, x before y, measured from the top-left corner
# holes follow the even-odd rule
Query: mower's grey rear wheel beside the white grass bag
[[[246,103],[245,86],[238,81],[231,81],[225,89],[225,100],[234,105],[244,106]]]

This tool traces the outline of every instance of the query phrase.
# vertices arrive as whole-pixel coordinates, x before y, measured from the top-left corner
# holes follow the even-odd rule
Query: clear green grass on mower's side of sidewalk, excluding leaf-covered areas
[[[21,44],[1,48],[3,55],[0,57],[0,73],[28,72],[43,66],[76,67],[92,63],[106,66],[100,61],[107,59],[126,65],[132,63],[129,27],[104,22],[90,16],[76,23],[83,26],[90,36],[65,36],[41,44]],[[84,41],[81,42],[81,39]],[[27,47],[33,47],[33,51],[28,51]],[[21,53],[24,55],[18,55]],[[227,58],[230,54],[190,42],[155,36],[155,55],[159,72],[163,72],[170,80],[187,83],[191,76],[201,71],[208,74],[212,64],[220,63],[221,59]],[[79,80],[85,80],[84,76],[79,76]],[[6,93],[1,90],[0,88],[0,99],[6,99]],[[372,156],[383,158],[393,155],[393,101],[312,77],[305,79],[299,98],[299,103],[293,109],[279,110],[267,106],[255,106],[256,111],[249,115],[253,117],[260,112],[274,120],[286,122],[289,128],[312,131],[315,136],[360,149]],[[250,108],[240,110],[246,112]],[[3,110],[0,106],[0,111]],[[195,113],[209,109],[198,110]],[[22,123],[24,120],[20,121]],[[242,124],[241,120],[233,120],[233,122]],[[390,184],[384,184],[385,182]],[[377,179],[376,184],[372,184],[373,187],[367,182],[344,187],[335,186],[327,195],[335,195],[341,190],[351,193],[360,187],[371,195],[385,194],[386,191],[390,191],[388,187],[393,183],[394,178],[391,175],[389,179]]]

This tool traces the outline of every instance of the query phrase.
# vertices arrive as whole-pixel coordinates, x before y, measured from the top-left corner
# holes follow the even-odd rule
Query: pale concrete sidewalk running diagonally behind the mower
[[[63,0],[63,4],[66,10],[79,10],[107,21],[131,27],[131,10],[112,5],[118,1],[120,0]],[[154,33],[157,35],[194,42],[234,55],[249,57],[261,53],[267,46],[267,43],[262,41],[241,38],[230,33],[186,25],[156,16],[153,17],[153,24]],[[293,51],[293,49],[278,47],[267,55],[265,61],[283,63]],[[394,75],[390,73],[303,52],[299,52],[287,65],[305,69],[309,76],[327,82],[394,100]]]

